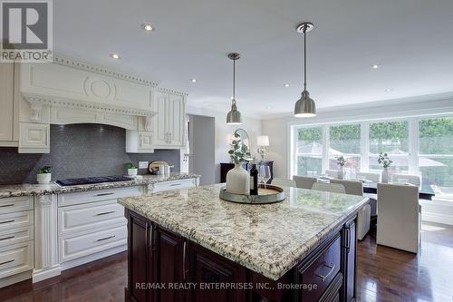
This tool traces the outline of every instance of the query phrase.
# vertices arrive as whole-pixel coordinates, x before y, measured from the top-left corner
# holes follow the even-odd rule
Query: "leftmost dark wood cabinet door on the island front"
[[[131,212],[130,212],[131,213]],[[151,250],[151,224],[138,216],[130,214],[128,225],[128,265],[129,279],[127,296],[130,301],[153,301],[151,291],[138,287],[147,282],[153,283],[153,257]]]

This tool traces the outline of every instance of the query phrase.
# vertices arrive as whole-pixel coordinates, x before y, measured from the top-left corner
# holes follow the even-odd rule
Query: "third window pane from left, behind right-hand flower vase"
[[[390,173],[407,173],[409,170],[409,122],[371,123],[369,132],[369,170],[382,170],[377,158],[380,152],[385,152],[393,161]]]

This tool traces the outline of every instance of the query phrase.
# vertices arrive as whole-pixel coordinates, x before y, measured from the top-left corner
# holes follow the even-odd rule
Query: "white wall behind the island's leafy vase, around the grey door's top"
[[[229,162],[227,151],[229,149],[229,141],[233,132],[237,128],[246,130],[251,141],[252,154],[256,152],[256,137],[261,134],[261,120],[248,118],[243,116],[242,125],[227,125],[226,113],[206,110],[202,108],[195,108],[187,106],[186,112],[188,114],[197,114],[204,116],[211,116],[216,121],[216,182],[220,182],[220,162]]]

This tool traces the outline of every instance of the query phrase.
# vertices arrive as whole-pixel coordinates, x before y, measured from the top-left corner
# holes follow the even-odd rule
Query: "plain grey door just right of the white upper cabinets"
[[[200,185],[216,182],[216,126],[209,116],[189,115],[188,171],[201,175]]]

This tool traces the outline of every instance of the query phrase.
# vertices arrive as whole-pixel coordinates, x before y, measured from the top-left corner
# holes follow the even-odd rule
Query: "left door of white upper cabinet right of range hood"
[[[168,119],[169,112],[169,93],[156,92],[153,102],[153,111],[158,112],[154,119],[154,144],[165,146],[169,143]]]

